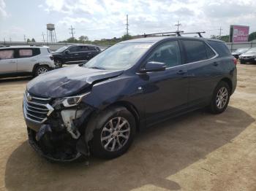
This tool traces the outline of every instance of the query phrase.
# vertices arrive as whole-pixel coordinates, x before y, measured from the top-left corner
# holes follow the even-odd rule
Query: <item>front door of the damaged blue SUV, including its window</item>
[[[144,74],[145,113],[147,122],[169,117],[187,107],[188,79],[187,66],[181,65],[181,51],[178,41],[160,44],[146,59],[165,63],[165,71]]]

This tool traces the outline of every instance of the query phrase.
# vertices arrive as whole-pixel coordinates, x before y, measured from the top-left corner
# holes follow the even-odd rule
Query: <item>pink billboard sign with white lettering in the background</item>
[[[232,26],[232,42],[248,42],[249,26]]]

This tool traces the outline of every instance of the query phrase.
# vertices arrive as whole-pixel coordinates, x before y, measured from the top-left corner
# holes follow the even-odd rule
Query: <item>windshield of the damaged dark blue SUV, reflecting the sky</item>
[[[101,52],[84,67],[91,69],[128,69],[135,65],[151,43],[120,43]]]

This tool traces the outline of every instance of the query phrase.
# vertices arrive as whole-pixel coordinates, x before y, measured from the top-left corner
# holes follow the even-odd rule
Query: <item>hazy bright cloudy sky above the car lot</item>
[[[232,24],[250,26],[256,31],[255,0],[0,0],[0,41],[23,41],[23,35],[42,42],[46,24],[56,26],[57,40],[70,37],[109,39],[129,34],[176,31],[206,31],[205,36],[229,33]],[[46,37],[45,37],[46,38]]]

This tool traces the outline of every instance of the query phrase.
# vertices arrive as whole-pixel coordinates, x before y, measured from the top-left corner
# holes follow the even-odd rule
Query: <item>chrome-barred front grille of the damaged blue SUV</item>
[[[50,98],[39,98],[30,95],[27,91],[23,98],[23,113],[24,116],[34,122],[45,122],[47,117],[53,112],[53,107],[50,106]]]

